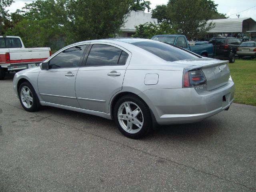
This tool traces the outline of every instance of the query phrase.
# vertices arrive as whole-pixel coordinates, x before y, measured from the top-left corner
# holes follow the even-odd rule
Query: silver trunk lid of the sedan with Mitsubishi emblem
[[[187,64],[186,69],[200,68],[206,77],[207,90],[213,90],[228,82],[230,70],[228,61],[211,58],[198,58],[190,60],[177,61],[177,64]]]

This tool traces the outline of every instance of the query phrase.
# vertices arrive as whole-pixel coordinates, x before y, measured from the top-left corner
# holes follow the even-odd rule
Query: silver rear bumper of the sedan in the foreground
[[[203,120],[225,110],[234,100],[234,82],[220,88],[196,92],[194,88],[151,89],[139,94],[158,124],[181,124]]]

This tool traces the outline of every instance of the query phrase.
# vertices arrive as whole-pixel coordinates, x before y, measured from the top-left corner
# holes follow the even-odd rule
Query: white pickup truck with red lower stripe
[[[51,56],[49,47],[25,48],[20,37],[0,36],[0,80],[7,71],[20,71],[39,66]]]

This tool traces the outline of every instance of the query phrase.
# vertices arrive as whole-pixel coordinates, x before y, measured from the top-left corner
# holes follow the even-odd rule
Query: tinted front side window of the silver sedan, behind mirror
[[[50,60],[49,69],[79,66],[85,48],[86,45],[79,45],[60,52]]]

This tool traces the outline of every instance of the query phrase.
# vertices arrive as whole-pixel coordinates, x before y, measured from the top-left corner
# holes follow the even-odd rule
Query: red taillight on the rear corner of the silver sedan
[[[206,85],[206,78],[204,73],[200,69],[196,70],[184,70],[183,74],[183,87],[196,87]]]

